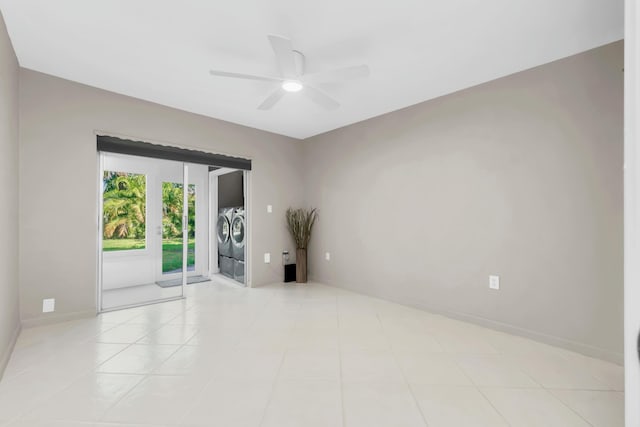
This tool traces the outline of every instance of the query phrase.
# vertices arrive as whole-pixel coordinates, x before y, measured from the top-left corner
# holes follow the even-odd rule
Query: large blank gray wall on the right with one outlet
[[[618,42],[307,140],[312,278],[620,361],[622,67]]]

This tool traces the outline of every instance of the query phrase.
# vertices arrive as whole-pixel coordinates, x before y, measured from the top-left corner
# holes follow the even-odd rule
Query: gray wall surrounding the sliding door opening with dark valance
[[[264,264],[262,254],[289,246],[283,212],[303,200],[302,144],[30,70],[20,78],[24,320],[95,313],[97,130],[251,158],[253,284],[281,280],[280,264]],[[56,312],[44,318],[43,298],[56,298]]]

